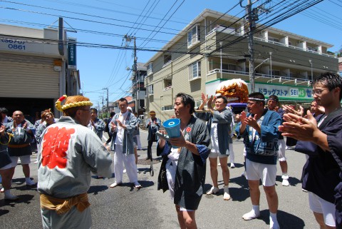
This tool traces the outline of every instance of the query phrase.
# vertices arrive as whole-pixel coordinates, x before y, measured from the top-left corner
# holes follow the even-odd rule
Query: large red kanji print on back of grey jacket
[[[66,168],[66,151],[73,133],[75,133],[73,128],[58,128],[58,126],[48,128],[43,138],[42,166]]]

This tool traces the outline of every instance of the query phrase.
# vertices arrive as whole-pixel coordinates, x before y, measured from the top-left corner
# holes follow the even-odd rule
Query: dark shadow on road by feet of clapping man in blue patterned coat
[[[305,226],[305,223],[301,218],[282,210],[278,210],[276,218],[278,218],[278,223],[282,229],[303,229]],[[269,225],[269,210],[261,210],[259,220],[264,220],[264,222]]]

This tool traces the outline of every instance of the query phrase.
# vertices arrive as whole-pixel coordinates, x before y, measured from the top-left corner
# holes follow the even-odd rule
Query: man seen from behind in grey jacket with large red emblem
[[[110,178],[110,153],[90,121],[89,98],[62,96],[56,102],[63,116],[48,126],[38,148],[38,192],[43,228],[90,228],[90,172]]]

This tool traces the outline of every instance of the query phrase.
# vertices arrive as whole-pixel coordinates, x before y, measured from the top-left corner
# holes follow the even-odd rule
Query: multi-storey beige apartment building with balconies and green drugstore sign
[[[147,61],[146,113],[162,121],[173,112],[174,97],[214,95],[220,82],[242,78],[249,84],[247,28],[243,20],[205,9]],[[237,22],[235,22],[237,21]],[[257,24],[257,28],[260,25]],[[275,28],[254,34],[255,91],[279,96],[283,103],[309,103],[312,77],[338,71],[331,44]],[[249,86],[250,88],[250,86]]]

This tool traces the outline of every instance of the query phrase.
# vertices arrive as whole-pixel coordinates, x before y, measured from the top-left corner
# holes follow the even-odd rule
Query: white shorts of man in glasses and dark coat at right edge
[[[315,193],[309,192],[310,210],[323,214],[324,223],[330,227],[335,227],[335,205],[323,200]]]

